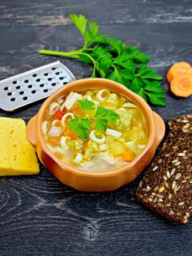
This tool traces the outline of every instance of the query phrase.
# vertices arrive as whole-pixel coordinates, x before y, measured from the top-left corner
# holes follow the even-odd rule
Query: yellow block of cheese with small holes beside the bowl
[[[26,137],[26,123],[20,118],[0,117],[0,176],[39,173],[34,148]]]

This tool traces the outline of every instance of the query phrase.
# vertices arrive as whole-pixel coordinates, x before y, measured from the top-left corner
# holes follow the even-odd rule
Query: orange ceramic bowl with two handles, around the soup
[[[87,172],[65,165],[64,162],[61,162],[49,151],[45,144],[41,124],[45,119],[46,110],[50,102],[53,102],[55,98],[57,99],[58,97],[67,95],[70,91],[103,88],[128,97],[142,110],[149,129],[147,145],[134,161],[117,170],[111,170],[106,173]],[[75,80],[58,89],[58,91],[55,91],[54,94],[45,100],[37,115],[31,118],[27,125],[28,140],[36,149],[40,161],[63,184],[85,192],[110,191],[133,181],[153,159],[155,149],[158,147],[162,138],[164,138],[164,133],[165,125],[163,119],[151,110],[142,97],[134,94],[134,92],[128,90],[120,83],[102,78]]]

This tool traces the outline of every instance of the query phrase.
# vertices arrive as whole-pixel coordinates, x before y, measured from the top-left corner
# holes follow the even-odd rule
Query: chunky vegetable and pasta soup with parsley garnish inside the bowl
[[[61,162],[97,173],[128,165],[148,140],[142,111],[107,89],[71,92],[52,102],[42,134]]]

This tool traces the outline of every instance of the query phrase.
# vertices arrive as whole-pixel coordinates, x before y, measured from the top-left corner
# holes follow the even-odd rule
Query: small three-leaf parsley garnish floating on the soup
[[[87,110],[94,110],[95,104],[88,99],[85,101],[77,100],[77,102],[80,105],[81,113],[69,121],[69,130],[75,131],[77,136],[82,139],[86,140],[88,138],[89,129],[91,129],[92,125],[91,121],[95,122],[96,129],[105,131],[107,129],[107,122],[114,124],[118,118],[117,113],[101,106],[96,108],[96,114],[93,118],[85,118],[82,116],[82,113]]]

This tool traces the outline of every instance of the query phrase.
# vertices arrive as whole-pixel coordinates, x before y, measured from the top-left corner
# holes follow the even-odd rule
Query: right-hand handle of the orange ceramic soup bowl
[[[165,135],[165,124],[164,120],[157,113],[153,111],[153,118],[155,121],[155,146],[158,147],[158,144],[161,143]]]

